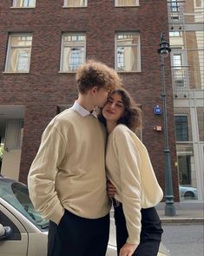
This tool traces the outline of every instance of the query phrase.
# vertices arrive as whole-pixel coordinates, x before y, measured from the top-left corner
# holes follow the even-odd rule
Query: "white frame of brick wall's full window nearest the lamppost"
[[[136,60],[138,69],[136,71],[120,71],[120,70],[118,70],[117,47],[118,46],[120,47],[120,44],[119,45],[117,44],[117,36],[118,35],[139,35],[139,40],[138,40],[139,42],[138,42],[138,45],[137,45],[137,47],[138,47],[138,59]],[[140,39],[141,39],[140,32],[138,32],[138,31],[115,32],[115,71],[120,72],[120,73],[138,73],[138,72],[141,72],[141,40]],[[134,46],[135,44],[132,44],[132,45]],[[125,46],[125,47],[128,47],[128,45]]]

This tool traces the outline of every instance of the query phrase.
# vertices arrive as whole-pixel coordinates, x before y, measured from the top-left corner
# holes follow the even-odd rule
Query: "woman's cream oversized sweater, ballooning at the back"
[[[126,125],[109,134],[106,165],[108,179],[115,185],[115,199],[122,202],[128,229],[127,242],[140,243],[141,208],[157,205],[163,192],[146,147]]]

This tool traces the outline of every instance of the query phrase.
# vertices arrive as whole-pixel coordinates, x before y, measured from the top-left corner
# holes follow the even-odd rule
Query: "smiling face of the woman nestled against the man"
[[[122,102],[122,96],[115,92],[108,98],[107,103],[102,109],[102,115],[107,121],[117,122],[123,117],[125,112],[125,105]]]

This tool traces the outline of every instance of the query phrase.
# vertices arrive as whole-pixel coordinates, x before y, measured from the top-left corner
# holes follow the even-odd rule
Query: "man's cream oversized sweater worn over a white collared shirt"
[[[58,224],[64,208],[89,219],[109,212],[104,151],[104,127],[93,115],[69,109],[49,123],[28,177],[43,218]]]

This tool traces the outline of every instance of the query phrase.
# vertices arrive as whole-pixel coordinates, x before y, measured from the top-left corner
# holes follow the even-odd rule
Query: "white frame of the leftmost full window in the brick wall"
[[[11,38],[12,37],[32,37],[32,34],[27,34],[27,33],[22,33],[22,34],[16,34],[16,33],[12,33],[9,36],[9,43],[8,43],[8,47],[7,47],[7,56],[6,56],[6,64],[5,64],[5,73],[29,73],[30,72],[30,59],[31,59],[31,51],[32,51],[32,42],[31,45],[11,45]],[[32,37],[33,39],[33,37]],[[17,64],[16,65],[16,70],[15,71],[10,71],[10,61],[11,61],[11,48],[16,48],[19,49],[19,51],[17,51],[17,55],[21,55],[25,54],[25,52],[21,52],[20,49],[25,49],[25,48],[29,48],[29,56],[28,56],[28,70],[27,71],[18,71],[19,66]],[[18,64],[20,64],[20,59],[16,58],[16,60],[18,61]]]

